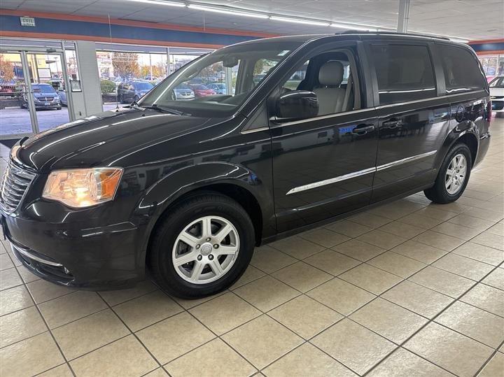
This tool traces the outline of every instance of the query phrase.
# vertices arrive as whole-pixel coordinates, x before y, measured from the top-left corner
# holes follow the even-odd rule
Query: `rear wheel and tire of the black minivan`
[[[458,166],[457,161],[460,164]],[[465,171],[461,166],[464,162]],[[453,167],[455,169],[451,169]],[[449,168],[450,171],[454,171],[453,176],[449,173]],[[468,146],[463,143],[454,145],[444,157],[433,187],[424,190],[423,193],[434,203],[447,204],[456,201],[461,197],[469,182],[471,168],[472,157]],[[448,181],[449,177],[452,177],[451,183]]]

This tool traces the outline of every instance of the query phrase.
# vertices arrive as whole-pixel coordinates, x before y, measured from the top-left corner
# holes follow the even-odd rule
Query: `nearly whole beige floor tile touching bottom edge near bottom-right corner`
[[[474,376],[492,349],[431,322],[405,343],[405,348],[457,376]]]

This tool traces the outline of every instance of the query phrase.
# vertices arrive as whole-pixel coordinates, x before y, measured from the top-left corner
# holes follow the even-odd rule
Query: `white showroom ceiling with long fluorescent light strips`
[[[208,10],[146,3],[148,0],[1,0],[1,8],[66,13],[268,34],[337,33],[343,27],[317,26],[268,18],[223,15]],[[212,0],[172,3],[214,6],[260,15],[296,17],[395,29],[398,0]],[[224,8],[224,6],[228,6]],[[229,8],[232,7],[232,8]],[[411,0],[409,31],[466,40],[504,38],[502,0]],[[339,24],[339,26],[342,26]],[[351,27],[349,27],[351,29]]]

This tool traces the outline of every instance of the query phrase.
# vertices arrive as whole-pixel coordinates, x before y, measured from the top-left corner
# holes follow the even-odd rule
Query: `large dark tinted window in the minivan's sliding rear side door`
[[[434,71],[427,46],[372,45],[371,55],[381,105],[436,96]]]

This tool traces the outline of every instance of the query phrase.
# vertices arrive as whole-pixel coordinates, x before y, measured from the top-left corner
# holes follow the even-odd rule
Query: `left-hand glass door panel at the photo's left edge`
[[[0,52],[0,139],[22,138],[34,132],[34,109],[28,101],[31,67],[22,52]]]

